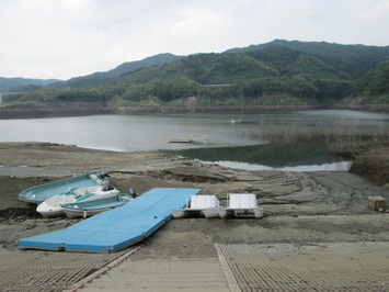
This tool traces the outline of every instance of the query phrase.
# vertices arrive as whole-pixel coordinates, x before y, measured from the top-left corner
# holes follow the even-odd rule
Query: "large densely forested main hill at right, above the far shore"
[[[169,104],[188,97],[196,97],[203,105],[332,104],[346,97],[371,94],[366,92],[388,94],[382,88],[389,82],[386,67],[370,75],[380,76],[379,85],[371,78],[358,83],[387,60],[388,46],[274,41],[221,54],[190,55],[128,72],[110,86],[124,92],[116,97],[133,104],[150,97]],[[369,90],[364,89],[367,83]],[[389,97],[384,100],[389,103]]]

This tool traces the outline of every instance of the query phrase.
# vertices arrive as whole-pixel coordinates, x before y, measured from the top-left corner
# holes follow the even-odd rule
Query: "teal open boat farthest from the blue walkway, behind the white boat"
[[[66,192],[69,189],[80,189],[106,184],[110,181],[105,180],[105,177],[110,177],[110,175],[107,172],[92,171],[69,179],[35,186],[22,191],[19,194],[19,199],[27,203],[41,204],[47,199],[61,192]]]

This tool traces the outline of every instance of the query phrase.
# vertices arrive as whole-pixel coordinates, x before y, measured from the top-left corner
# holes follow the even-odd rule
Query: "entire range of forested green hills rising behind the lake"
[[[168,60],[127,63],[52,85],[12,106],[33,102],[95,102],[110,108],[389,104],[389,46],[276,40],[221,54],[159,57]]]

